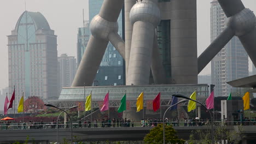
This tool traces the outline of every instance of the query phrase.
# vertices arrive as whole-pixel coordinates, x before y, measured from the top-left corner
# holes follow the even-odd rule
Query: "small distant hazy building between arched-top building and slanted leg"
[[[60,88],[70,87],[77,71],[77,59],[64,53],[58,57],[58,62],[60,65]]]

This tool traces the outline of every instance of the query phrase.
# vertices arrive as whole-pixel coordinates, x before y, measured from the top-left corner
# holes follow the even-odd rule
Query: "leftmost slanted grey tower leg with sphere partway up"
[[[72,87],[92,85],[107,48],[108,38],[112,38],[113,35],[111,33],[118,33],[117,20],[123,4],[124,0],[104,0],[100,14],[92,19],[90,23],[92,35],[88,41],[77,74],[75,74]],[[123,55],[125,54],[123,53]]]

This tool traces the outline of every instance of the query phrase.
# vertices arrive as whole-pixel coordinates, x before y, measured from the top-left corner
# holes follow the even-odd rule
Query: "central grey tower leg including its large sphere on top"
[[[160,22],[157,1],[137,2],[130,11],[130,21],[133,32],[126,85],[148,85],[155,27]]]

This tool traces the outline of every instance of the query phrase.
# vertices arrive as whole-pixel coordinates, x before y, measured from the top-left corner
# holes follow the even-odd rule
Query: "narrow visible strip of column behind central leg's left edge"
[[[136,0],[124,0],[125,3],[125,73],[126,81],[128,75],[130,51],[131,51],[131,40],[132,40],[132,25],[130,22],[130,11],[132,6],[136,3]]]

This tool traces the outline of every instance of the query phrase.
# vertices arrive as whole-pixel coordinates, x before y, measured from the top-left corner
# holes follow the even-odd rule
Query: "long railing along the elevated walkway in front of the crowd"
[[[73,128],[118,128],[118,127],[155,127],[162,122],[135,122],[135,123],[73,123]],[[210,122],[165,122],[167,125],[173,127],[201,127],[210,126]],[[256,121],[216,121],[213,123],[216,126],[223,125],[256,125]],[[58,125],[56,122],[46,123],[0,123],[0,130],[22,130],[22,129],[67,129],[71,128],[70,123],[60,122]]]

